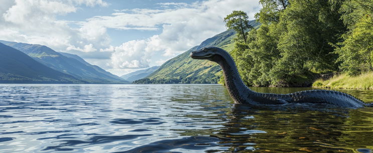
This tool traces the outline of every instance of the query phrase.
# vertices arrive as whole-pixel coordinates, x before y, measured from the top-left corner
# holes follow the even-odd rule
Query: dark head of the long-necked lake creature
[[[216,61],[217,58],[222,57],[226,51],[218,47],[204,47],[197,51],[191,52],[191,57],[194,59],[209,59]]]

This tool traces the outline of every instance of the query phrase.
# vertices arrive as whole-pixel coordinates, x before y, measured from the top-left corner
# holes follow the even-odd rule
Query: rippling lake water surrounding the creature
[[[0,152],[245,150],[371,152],[373,107],[234,104],[214,84],[0,84]]]

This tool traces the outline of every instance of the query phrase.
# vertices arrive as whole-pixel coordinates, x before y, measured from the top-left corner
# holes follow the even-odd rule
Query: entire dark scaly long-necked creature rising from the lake
[[[242,81],[232,56],[222,48],[206,47],[192,51],[195,59],[209,59],[217,62],[223,69],[228,92],[235,103],[253,105],[285,103],[329,103],[341,107],[358,108],[372,106],[349,95],[333,90],[305,90],[288,94],[259,93],[249,89]]]

